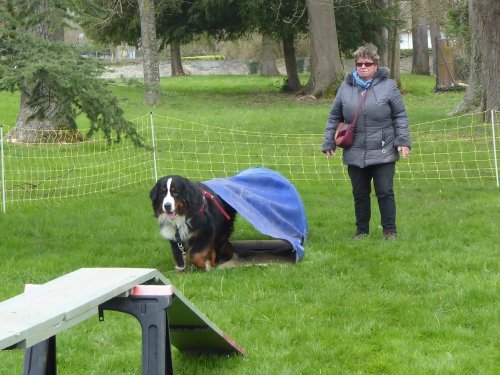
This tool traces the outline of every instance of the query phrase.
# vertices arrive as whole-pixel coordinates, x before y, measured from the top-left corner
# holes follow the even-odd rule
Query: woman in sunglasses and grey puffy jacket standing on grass
[[[348,73],[339,88],[325,128],[322,151],[335,155],[334,135],[340,121],[353,121],[361,98],[366,95],[355,124],[353,145],[344,149],[342,159],[348,166],[354,197],[356,232],[359,239],[370,233],[371,183],[380,210],[383,237],[397,235],[394,172],[399,155],[408,157],[411,148],[406,109],[389,69],[379,67],[380,56],[372,44],[354,52],[356,68]]]

